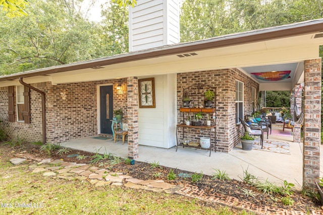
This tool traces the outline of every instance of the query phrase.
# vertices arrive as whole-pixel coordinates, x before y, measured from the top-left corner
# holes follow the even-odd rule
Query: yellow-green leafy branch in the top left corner
[[[26,6],[29,5],[27,0],[0,0],[0,8],[6,12],[8,17],[16,17],[27,15],[24,11]]]

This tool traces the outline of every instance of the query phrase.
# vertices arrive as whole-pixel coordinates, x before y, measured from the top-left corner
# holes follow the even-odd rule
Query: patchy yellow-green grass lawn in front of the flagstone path
[[[0,175],[7,176],[0,177],[2,202],[43,206],[3,207],[4,214],[247,214],[185,196],[49,178],[0,159]]]

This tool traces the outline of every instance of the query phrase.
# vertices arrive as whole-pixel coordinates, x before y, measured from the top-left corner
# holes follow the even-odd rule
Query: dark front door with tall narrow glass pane
[[[101,133],[112,134],[111,120],[113,117],[113,88],[112,86],[100,87],[100,121]]]

